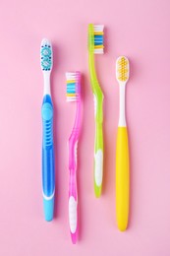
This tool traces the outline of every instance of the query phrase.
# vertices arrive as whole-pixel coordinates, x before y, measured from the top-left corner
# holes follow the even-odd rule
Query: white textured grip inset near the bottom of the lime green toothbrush
[[[101,150],[98,150],[96,154],[94,155],[95,159],[95,183],[97,186],[101,186],[102,183],[102,177],[103,177],[103,153]]]

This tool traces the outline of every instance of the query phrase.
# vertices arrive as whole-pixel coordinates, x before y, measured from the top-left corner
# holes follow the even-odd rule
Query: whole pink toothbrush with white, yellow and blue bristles
[[[75,124],[69,138],[69,224],[72,242],[78,239],[77,148],[81,129],[81,73],[66,73],[67,101],[77,102]]]

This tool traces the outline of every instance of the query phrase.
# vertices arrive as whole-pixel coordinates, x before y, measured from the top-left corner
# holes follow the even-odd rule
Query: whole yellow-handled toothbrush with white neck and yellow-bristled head
[[[116,61],[116,79],[120,90],[120,114],[116,145],[116,219],[118,228],[124,231],[129,218],[129,146],[125,116],[125,92],[129,79],[129,60],[120,56]]]

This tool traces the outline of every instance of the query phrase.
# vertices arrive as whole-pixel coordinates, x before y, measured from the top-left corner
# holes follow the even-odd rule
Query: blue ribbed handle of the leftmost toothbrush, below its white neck
[[[43,209],[47,222],[52,221],[54,214],[55,167],[53,144],[53,104],[51,96],[43,97],[42,108],[42,192]]]

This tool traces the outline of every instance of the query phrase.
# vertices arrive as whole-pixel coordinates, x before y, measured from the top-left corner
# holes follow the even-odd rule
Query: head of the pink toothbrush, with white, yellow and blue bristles
[[[67,83],[67,101],[75,101],[80,98],[81,94],[81,73],[72,72],[66,73]]]

